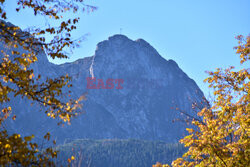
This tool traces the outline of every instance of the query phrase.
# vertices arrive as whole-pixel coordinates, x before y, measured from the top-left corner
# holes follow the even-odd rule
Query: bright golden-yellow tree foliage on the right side
[[[240,62],[249,63],[250,36],[237,39],[239,45],[235,49],[240,54]],[[187,129],[189,135],[180,140],[189,149],[172,166],[249,166],[250,68],[233,69],[209,72],[210,77],[205,81],[214,88],[216,99],[211,108],[198,113],[202,121],[192,121],[195,128]]]

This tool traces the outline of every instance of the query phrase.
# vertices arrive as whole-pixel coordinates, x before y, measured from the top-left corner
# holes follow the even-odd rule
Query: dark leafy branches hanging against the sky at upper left
[[[79,42],[84,39],[84,37],[73,39],[70,34],[71,31],[76,29],[76,24],[80,18],[76,17],[65,21],[63,20],[63,14],[67,12],[75,13],[85,10],[94,11],[97,9],[95,6],[87,5],[81,0],[52,0],[42,2],[38,2],[37,0],[18,0],[17,4],[17,12],[25,8],[31,8],[34,11],[34,15],[42,15],[44,17],[48,17],[49,19],[60,21],[57,21],[57,25],[48,25],[46,28],[38,27],[29,29],[29,34],[31,35],[24,35],[23,33],[20,34],[18,33],[19,31],[15,31],[12,27],[1,24],[0,27],[2,32],[0,32],[0,34],[3,36],[3,38],[5,38],[5,42],[8,43],[9,41],[12,41],[10,39],[12,38],[20,46],[25,44],[25,47],[36,47],[36,50],[38,48],[42,48],[52,58],[67,58],[65,48],[72,49],[78,47]],[[55,22],[53,22],[53,24],[54,23]],[[51,37],[50,41],[45,39],[46,35]]]

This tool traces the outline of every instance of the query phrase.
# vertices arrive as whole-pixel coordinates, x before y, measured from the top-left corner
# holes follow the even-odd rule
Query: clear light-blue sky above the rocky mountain
[[[13,1],[6,4],[9,21],[21,28],[41,25],[43,18],[33,17],[31,12],[15,14]],[[239,67],[239,58],[233,50],[237,45],[234,37],[250,33],[250,0],[85,2],[97,6],[98,10],[80,14],[81,21],[74,34],[89,35],[70,59],[52,62],[92,56],[98,42],[120,33],[122,28],[122,34],[133,40],[143,38],[164,58],[175,60],[206,95],[209,90],[203,84],[207,77],[205,71],[229,65]]]

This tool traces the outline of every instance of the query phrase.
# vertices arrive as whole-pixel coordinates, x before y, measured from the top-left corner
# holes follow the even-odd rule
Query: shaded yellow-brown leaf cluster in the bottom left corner
[[[39,151],[38,144],[30,140],[34,136],[26,136],[24,140],[20,134],[9,136],[7,131],[0,131],[0,165],[1,166],[30,166],[36,163],[37,166],[51,166],[52,158],[57,157],[57,152],[52,148]]]

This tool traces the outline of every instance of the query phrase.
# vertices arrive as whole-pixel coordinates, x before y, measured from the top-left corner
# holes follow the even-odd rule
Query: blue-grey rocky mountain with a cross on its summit
[[[1,43],[0,49],[9,48]],[[39,112],[43,109],[38,104],[16,97],[10,106],[17,118],[9,119],[6,127],[22,135],[42,136],[49,131],[59,143],[78,138],[177,142],[187,125],[173,120],[185,119],[180,110],[195,115],[192,103],[201,103],[203,98],[175,61],[161,57],[145,40],[133,41],[124,35],[109,37],[98,43],[94,56],[72,63],[55,65],[40,51],[32,68],[44,78],[72,76],[71,97],[88,93],[82,102],[85,112],[71,125],[57,126],[57,121]]]

